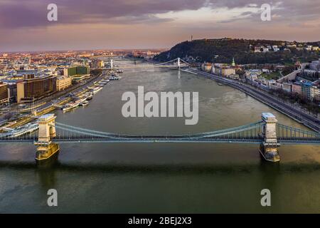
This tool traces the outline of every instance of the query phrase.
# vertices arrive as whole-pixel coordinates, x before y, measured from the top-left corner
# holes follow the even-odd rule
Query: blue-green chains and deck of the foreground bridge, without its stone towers
[[[66,125],[64,123],[55,123],[56,141],[75,141],[75,140],[109,140],[109,141],[237,141],[249,142],[263,140],[262,138],[262,121],[249,125],[242,125],[236,128],[228,128],[223,130],[215,130],[207,133],[183,134],[183,135],[127,135],[118,133],[106,133],[97,130],[89,130],[75,126]],[[277,139],[280,142],[316,142],[320,143],[320,134],[292,128],[277,123],[276,125]],[[36,142],[38,141],[38,133],[12,135],[12,133],[1,133],[0,142]]]

